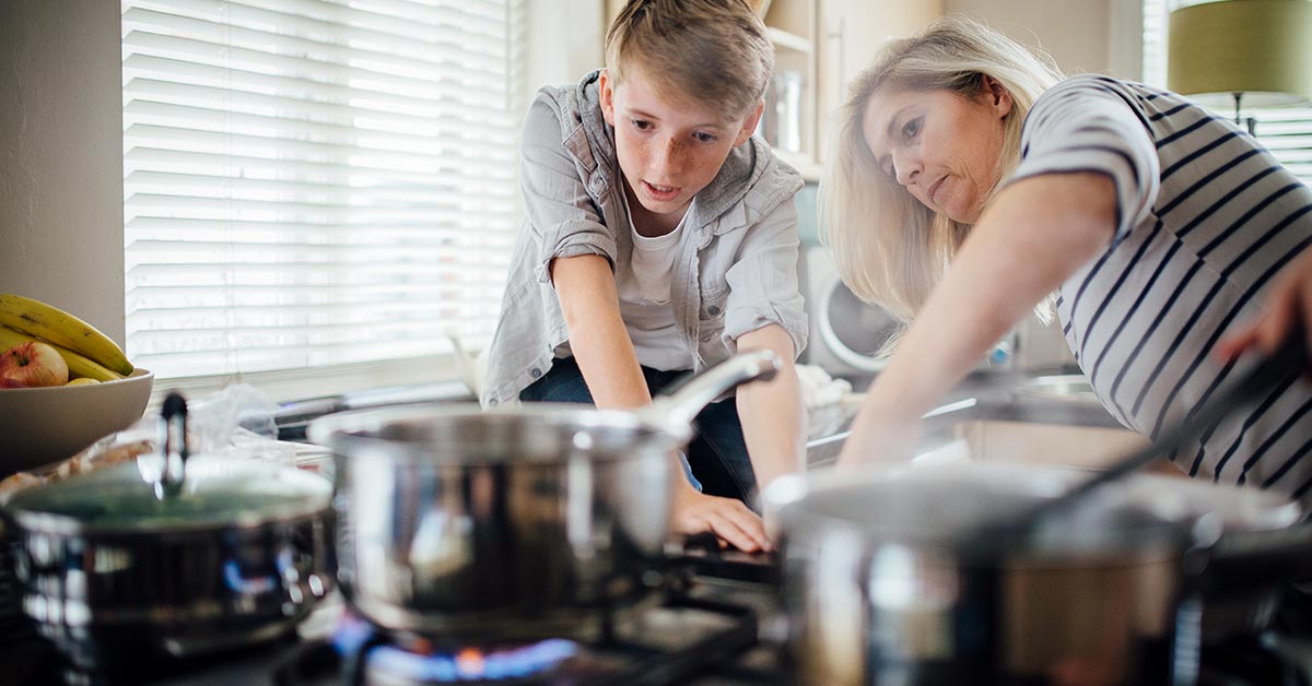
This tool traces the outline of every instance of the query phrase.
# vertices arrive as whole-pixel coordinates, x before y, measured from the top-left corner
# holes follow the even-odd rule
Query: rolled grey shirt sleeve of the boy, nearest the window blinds
[[[611,268],[615,264],[614,233],[588,195],[579,164],[565,153],[563,119],[556,101],[539,93],[520,136],[520,189],[526,228],[539,248],[534,275],[543,283],[551,282],[551,261],[558,257],[601,254]]]

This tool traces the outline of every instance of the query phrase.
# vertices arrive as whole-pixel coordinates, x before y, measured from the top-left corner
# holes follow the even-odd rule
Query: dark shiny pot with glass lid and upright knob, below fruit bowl
[[[24,611],[73,669],[106,678],[276,639],[333,585],[332,484],[190,456],[185,403],[164,407],[159,454],[0,506]]]

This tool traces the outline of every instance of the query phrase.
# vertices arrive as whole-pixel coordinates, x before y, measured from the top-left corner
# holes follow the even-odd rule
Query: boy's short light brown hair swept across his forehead
[[[635,68],[737,118],[765,96],[774,47],[747,0],[630,0],[606,31],[606,70],[618,85]]]

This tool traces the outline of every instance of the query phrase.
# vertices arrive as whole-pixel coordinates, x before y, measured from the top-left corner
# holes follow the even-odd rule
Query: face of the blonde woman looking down
[[[880,89],[861,131],[884,173],[917,201],[974,224],[998,182],[1012,94],[988,79],[974,97],[951,91]]]

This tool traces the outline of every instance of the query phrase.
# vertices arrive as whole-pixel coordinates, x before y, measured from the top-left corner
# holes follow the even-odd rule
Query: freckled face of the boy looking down
[[[761,106],[727,119],[714,106],[661,92],[642,68],[622,84],[601,72],[601,111],[615,129],[615,153],[632,197],[673,228],[693,197],[720,172],[729,151],[752,136]],[[677,97],[669,97],[677,96]]]

